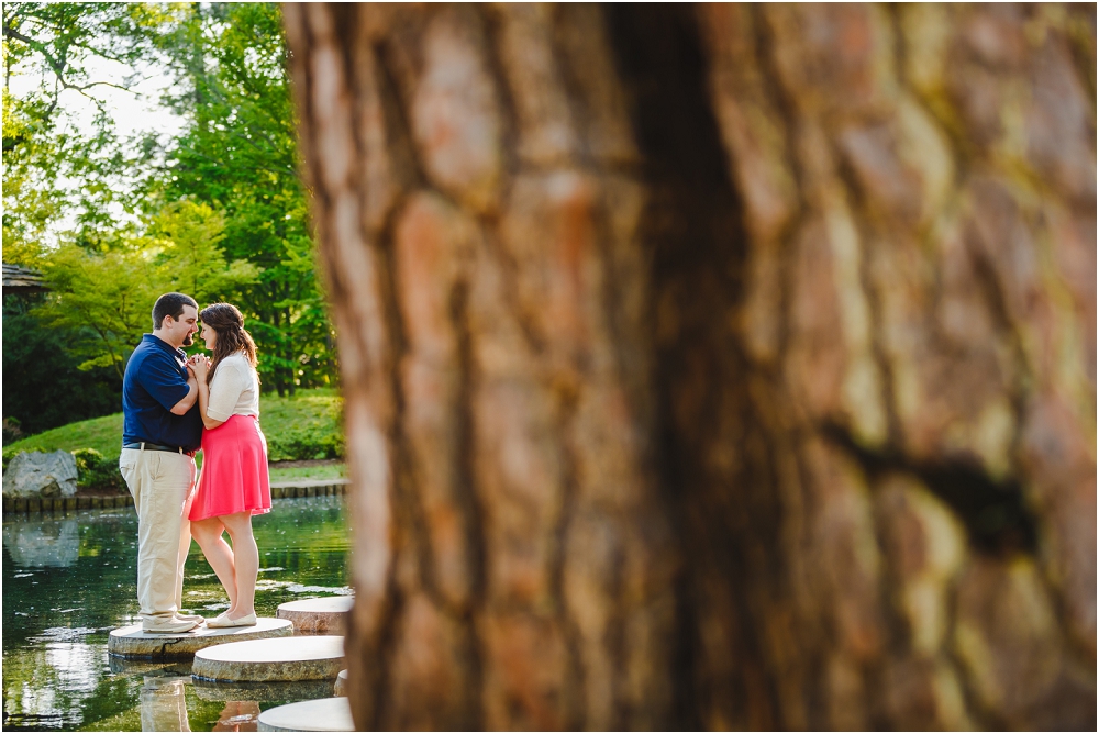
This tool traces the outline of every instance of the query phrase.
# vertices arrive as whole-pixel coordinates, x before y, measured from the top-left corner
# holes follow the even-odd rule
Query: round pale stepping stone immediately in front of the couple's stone
[[[334,680],[343,667],[342,636],[306,635],[201,649],[191,675],[207,680]]]

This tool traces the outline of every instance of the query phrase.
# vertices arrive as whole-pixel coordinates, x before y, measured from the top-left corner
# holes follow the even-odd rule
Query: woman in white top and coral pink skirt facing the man
[[[256,343],[244,316],[230,303],[199,312],[202,340],[213,354],[188,362],[199,383],[202,415],[202,476],[191,504],[191,535],[229,593],[229,609],[210,627],[256,623],[259,549],[252,515],[270,511],[267,440],[259,431]],[[222,537],[229,531],[233,547]]]

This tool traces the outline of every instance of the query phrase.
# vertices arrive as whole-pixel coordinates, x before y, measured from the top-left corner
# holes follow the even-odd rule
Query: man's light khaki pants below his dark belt
[[[119,470],[137,508],[141,616],[145,624],[168,621],[182,605],[195,459],[186,454],[123,448]]]

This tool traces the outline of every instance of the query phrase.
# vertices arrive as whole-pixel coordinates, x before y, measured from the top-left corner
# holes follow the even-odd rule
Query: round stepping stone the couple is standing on
[[[274,620],[260,616],[251,627],[198,627],[195,632],[173,634],[141,631],[141,624],[112,630],[107,641],[107,652],[119,657],[144,660],[189,658],[196,652],[211,645],[241,640],[265,640],[289,637],[293,625],[289,620]]]

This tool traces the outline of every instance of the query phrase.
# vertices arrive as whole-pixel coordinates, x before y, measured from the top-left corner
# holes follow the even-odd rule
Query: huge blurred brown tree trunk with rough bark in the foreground
[[[360,729],[1094,729],[1095,7],[288,4]]]

